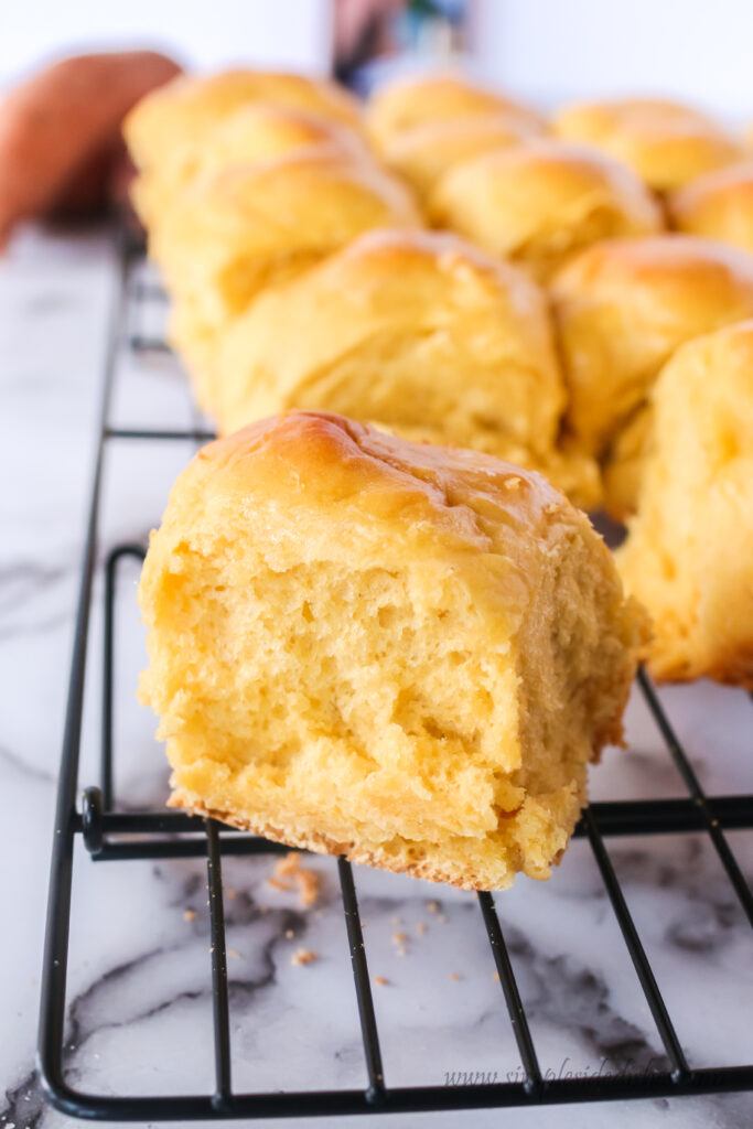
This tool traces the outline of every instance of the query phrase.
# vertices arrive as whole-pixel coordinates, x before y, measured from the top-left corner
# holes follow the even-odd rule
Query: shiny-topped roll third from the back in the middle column
[[[436,226],[520,263],[540,282],[592,243],[662,227],[656,201],[625,165],[545,139],[456,165],[428,210]]]

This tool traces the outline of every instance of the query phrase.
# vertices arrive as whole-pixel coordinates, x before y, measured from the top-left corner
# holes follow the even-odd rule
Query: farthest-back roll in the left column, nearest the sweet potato
[[[254,102],[360,128],[356,99],[324,79],[253,70],[184,75],[148,95],[126,117],[123,132],[133,163],[146,169],[165,165],[176,155],[195,157],[228,114]]]

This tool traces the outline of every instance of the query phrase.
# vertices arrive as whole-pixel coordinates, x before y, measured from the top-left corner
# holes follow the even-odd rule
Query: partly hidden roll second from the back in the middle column
[[[387,139],[382,155],[426,200],[440,176],[461,161],[519,145],[541,132],[537,122],[518,114],[472,114],[401,130]]]

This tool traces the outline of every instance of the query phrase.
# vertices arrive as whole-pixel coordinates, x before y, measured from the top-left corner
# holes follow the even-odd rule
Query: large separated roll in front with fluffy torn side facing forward
[[[539,475],[306,412],[200,452],[139,599],[174,806],[473,889],[559,861],[642,622]]]

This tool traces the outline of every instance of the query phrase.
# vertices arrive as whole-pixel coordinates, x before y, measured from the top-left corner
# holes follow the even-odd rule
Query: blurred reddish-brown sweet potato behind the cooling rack
[[[0,246],[20,219],[87,212],[122,192],[121,121],[180,72],[154,51],[78,55],[0,102]]]

